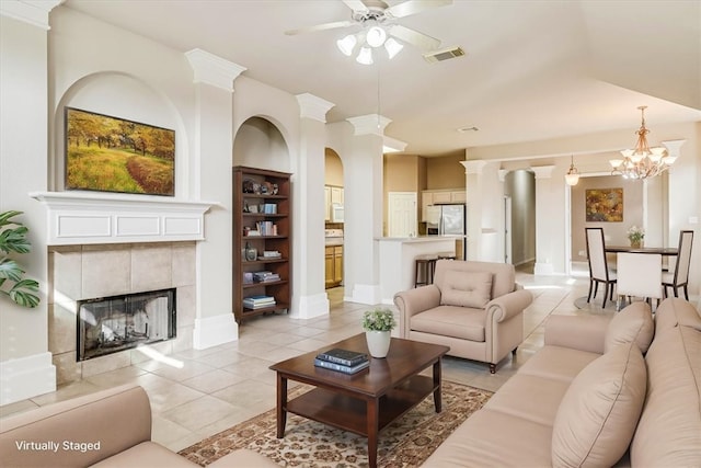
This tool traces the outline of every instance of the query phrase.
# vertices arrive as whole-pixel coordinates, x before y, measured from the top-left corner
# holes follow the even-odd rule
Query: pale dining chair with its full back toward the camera
[[[616,310],[621,310],[621,298],[628,297],[631,304],[634,297],[641,297],[652,305],[662,299],[662,255],[651,253],[621,252],[616,259],[616,290],[618,299]]]

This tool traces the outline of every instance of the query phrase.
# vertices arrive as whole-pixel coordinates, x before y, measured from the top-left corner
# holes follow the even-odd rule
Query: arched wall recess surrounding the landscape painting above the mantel
[[[50,124],[54,129],[54,150],[53,157],[49,156],[49,190],[65,190],[66,107],[175,130],[175,198],[191,195],[189,138],[181,114],[157,88],[118,71],[101,71],[82,77],[57,101]]]

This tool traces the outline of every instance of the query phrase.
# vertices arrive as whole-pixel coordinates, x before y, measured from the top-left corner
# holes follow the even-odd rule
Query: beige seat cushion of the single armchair
[[[438,306],[411,318],[411,329],[424,333],[484,341],[484,309]]]

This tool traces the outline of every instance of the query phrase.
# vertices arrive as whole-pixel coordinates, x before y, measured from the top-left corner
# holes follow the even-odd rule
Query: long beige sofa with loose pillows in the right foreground
[[[424,466],[701,467],[701,317],[677,298],[654,322],[645,303],[551,317],[543,349]]]

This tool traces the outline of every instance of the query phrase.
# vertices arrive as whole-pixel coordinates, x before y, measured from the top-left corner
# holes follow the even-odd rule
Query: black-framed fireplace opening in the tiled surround
[[[175,289],[78,301],[78,361],[175,338]]]

